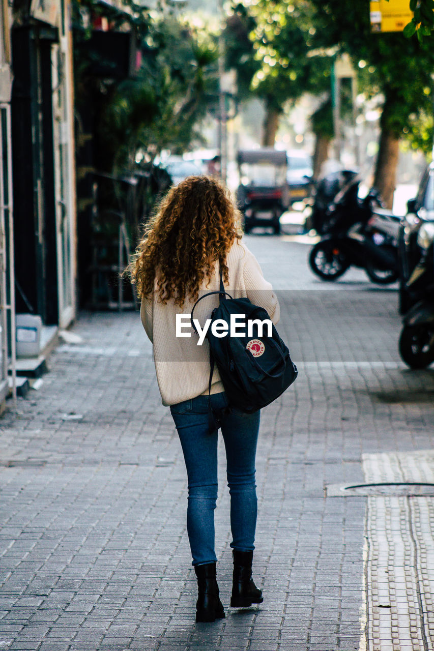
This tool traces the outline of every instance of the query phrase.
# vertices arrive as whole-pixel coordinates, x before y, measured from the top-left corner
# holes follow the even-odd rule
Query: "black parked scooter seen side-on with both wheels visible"
[[[364,269],[373,283],[390,284],[398,279],[399,217],[381,208],[371,189],[358,198],[360,178],[350,177],[334,201],[328,204],[320,232],[321,241],[311,249],[311,270],[334,281],[351,266]]]

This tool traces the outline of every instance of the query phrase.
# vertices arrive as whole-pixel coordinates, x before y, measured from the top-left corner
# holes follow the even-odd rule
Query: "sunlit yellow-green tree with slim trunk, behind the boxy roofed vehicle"
[[[241,96],[250,93],[265,104],[265,146],[274,145],[287,102],[304,92],[323,92],[329,85],[323,83],[327,63],[308,56],[314,33],[307,0],[233,5],[225,29],[227,61],[237,69]]]

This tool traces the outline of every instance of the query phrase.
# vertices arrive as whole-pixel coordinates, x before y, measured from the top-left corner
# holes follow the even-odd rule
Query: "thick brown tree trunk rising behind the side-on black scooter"
[[[398,159],[399,138],[383,124],[373,184],[379,191],[384,206],[390,209],[394,203]]]

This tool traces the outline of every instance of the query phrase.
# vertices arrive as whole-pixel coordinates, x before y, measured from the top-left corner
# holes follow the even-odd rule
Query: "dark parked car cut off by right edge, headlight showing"
[[[420,181],[415,199],[407,202],[407,214],[399,230],[399,312],[405,314],[425,292],[423,277],[412,277],[422,256],[420,245],[423,227],[434,225],[434,162],[428,165]],[[412,277],[411,283],[409,282]]]

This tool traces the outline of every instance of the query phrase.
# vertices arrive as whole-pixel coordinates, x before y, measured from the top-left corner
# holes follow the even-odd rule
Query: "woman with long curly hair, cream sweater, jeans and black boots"
[[[274,323],[278,321],[278,300],[242,243],[238,222],[239,212],[220,182],[190,176],[172,187],[160,203],[132,264],[141,320],[154,348],[158,387],[175,421],[188,475],[187,531],[199,591],[197,622],[225,616],[218,596],[214,551],[218,430],[210,433],[209,400],[224,438],[231,495],[231,606],[263,602],[252,579],[259,411],[246,414],[229,408],[230,396],[225,394],[217,370],[209,392],[206,340],[197,345],[197,337],[186,327],[182,336],[176,336],[177,314],[189,315],[199,294],[218,290],[220,269],[229,294],[247,296],[264,307]],[[201,323],[217,300],[210,296],[197,305],[195,316]]]

